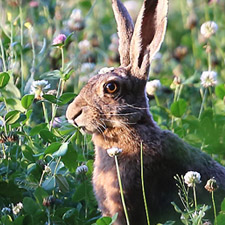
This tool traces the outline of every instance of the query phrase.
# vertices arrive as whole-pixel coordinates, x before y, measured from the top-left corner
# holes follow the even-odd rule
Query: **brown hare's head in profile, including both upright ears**
[[[86,132],[144,123],[151,117],[145,94],[149,65],[164,38],[168,0],[144,0],[135,27],[120,0],[112,0],[121,66],[92,77],[66,116]]]

